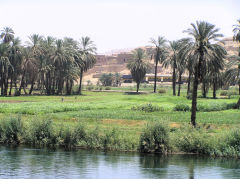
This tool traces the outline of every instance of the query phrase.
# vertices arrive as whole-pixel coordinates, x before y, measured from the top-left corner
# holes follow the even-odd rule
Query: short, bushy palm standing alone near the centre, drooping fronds
[[[137,93],[139,91],[141,81],[143,81],[147,71],[150,69],[150,65],[146,59],[147,55],[145,50],[138,48],[133,51],[133,58],[127,64],[133,80],[137,83]]]

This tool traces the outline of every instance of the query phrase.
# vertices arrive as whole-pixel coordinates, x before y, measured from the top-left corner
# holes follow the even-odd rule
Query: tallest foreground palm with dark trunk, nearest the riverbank
[[[194,83],[191,123],[193,126],[196,126],[197,90],[199,79],[203,76],[203,63],[212,58],[222,58],[222,56],[226,55],[226,51],[221,45],[216,44],[216,42],[219,41],[218,38],[223,37],[223,35],[218,33],[219,29],[216,29],[215,25],[205,21],[197,21],[196,25],[192,23],[191,26],[192,28],[189,28],[184,32],[187,32],[192,36],[193,43],[193,47],[186,49],[185,52],[195,57],[195,61],[193,62]]]

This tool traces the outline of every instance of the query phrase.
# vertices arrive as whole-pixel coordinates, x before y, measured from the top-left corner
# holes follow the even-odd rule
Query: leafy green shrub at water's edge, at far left
[[[23,123],[20,117],[7,118],[1,121],[1,138],[4,143],[19,144],[23,132]]]

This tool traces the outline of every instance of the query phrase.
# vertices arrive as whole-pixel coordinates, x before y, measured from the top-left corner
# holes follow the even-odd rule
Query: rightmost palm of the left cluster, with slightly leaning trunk
[[[82,37],[79,42],[80,50],[79,56],[76,58],[78,63],[80,73],[80,81],[79,81],[79,88],[78,94],[82,93],[82,79],[83,79],[83,72],[86,72],[88,69],[92,68],[93,65],[96,63],[96,45],[90,39],[90,37]]]

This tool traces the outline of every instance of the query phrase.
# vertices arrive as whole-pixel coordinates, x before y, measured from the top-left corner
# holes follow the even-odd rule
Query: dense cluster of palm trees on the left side
[[[21,95],[22,90],[32,94],[34,88],[47,95],[69,95],[78,79],[75,93],[81,94],[83,72],[96,63],[95,54],[96,46],[89,37],[76,41],[33,34],[23,46],[6,27],[0,34],[1,95],[11,95],[13,89],[15,95]]]

